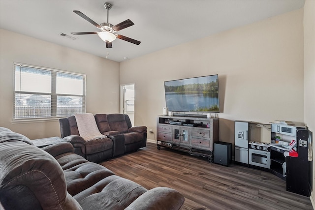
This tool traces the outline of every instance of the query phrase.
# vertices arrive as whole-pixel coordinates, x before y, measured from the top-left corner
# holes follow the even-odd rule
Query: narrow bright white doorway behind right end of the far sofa
[[[134,126],[134,84],[121,85],[120,113],[128,115]]]

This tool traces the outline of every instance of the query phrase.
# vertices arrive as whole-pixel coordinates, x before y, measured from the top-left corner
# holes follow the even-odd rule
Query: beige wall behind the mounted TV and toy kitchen
[[[303,9],[120,64],[120,83],[135,83],[135,124],[155,133],[163,82],[212,74],[221,141],[234,142],[234,120],[303,122]]]

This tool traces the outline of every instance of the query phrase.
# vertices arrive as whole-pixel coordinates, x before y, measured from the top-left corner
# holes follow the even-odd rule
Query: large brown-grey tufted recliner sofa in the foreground
[[[0,209],[178,210],[184,197],[168,187],[150,190],[89,162],[62,142],[39,149],[0,127]]]

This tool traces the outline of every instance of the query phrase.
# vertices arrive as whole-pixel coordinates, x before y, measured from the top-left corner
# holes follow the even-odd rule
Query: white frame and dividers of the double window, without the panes
[[[21,90],[15,90],[15,82],[16,82],[16,66],[21,67],[29,67],[29,68],[36,68],[36,69],[42,69],[47,70],[51,72],[51,92],[30,92],[30,91],[21,91]],[[75,76],[82,76],[82,95],[79,94],[66,94],[66,93],[57,93],[57,73],[65,73],[65,74],[71,74]],[[42,66],[36,66],[31,64],[25,64],[25,63],[19,63],[19,62],[13,62],[13,107],[12,107],[12,123],[16,122],[27,122],[27,121],[50,121],[50,120],[58,120],[60,118],[65,118],[68,116],[57,116],[57,97],[58,96],[76,96],[76,97],[82,97],[82,113],[86,113],[86,74],[71,72],[71,71],[64,71],[60,69],[54,69],[54,68],[48,68],[48,67],[42,67]],[[44,95],[50,95],[50,117],[30,117],[30,118],[16,118],[15,116],[15,108],[16,108],[16,94],[44,94]],[[71,116],[71,115],[69,115]]]

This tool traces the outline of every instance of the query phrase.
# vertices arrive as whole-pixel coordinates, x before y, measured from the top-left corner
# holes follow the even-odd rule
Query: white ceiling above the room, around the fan
[[[130,19],[134,26],[118,33],[141,41],[113,41],[106,49],[100,31],[72,10],[100,24],[107,22],[106,0],[0,0],[0,28],[115,61],[123,61],[250,24],[304,6],[305,0],[107,0],[109,23]],[[76,37],[64,38],[59,34]]]

